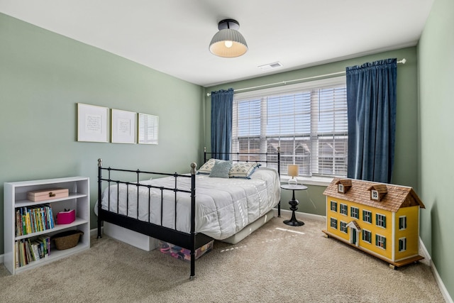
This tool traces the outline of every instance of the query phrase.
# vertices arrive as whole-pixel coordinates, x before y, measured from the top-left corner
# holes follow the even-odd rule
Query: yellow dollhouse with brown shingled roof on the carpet
[[[326,196],[326,237],[337,238],[395,268],[419,255],[419,209],[411,187],[335,178]]]

